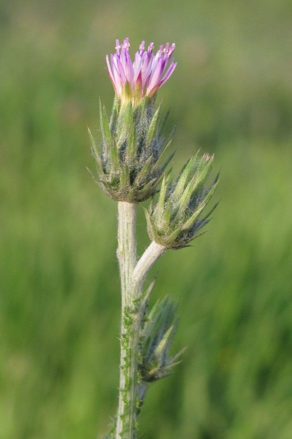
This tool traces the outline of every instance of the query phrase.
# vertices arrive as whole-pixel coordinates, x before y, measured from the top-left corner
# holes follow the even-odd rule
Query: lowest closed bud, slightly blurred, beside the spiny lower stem
[[[178,325],[176,304],[165,297],[158,300],[150,311],[142,331],[140,373],[144,381],[156,381],[172,373],[185,349],[168,356]]]

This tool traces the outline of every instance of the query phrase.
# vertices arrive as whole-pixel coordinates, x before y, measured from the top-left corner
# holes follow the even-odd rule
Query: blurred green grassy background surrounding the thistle
[[[87,125],[114,92],[105,55],[175,41],[159,91],[175,170],[221,180],[211,231],[168,251],[151,299],[181,322],[175,373],[150,386],[145,439],[292,438],[292,3],[15,0],[0,6],[0,439],[100,438],[117,406],[117,205]],[[138,217],[138,251],[148,244]],[[151,277],[150,277],[151,278]]]

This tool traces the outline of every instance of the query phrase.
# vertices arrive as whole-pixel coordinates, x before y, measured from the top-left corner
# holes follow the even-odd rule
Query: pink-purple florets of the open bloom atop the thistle
[[[132,62],[129,54],[129,38],[122,44],[116,40],[116,53],[109,60],[106,56],[108,74],[111,78],[118,100],[122,103],[132,101],[136,106],[144,96],[151,99],[156,95],[158,88],[166,82],[176,67],[176,62],[171,59],[175,50],[175,43],[159,47],[154,55],[154,44],[150,43],[145,50],[145,41],[141,42],[139,50]]]

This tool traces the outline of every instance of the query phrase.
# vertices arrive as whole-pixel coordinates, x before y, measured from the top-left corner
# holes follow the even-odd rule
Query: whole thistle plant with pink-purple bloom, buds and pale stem
[[[147,385],[169,375],[180,362],[180,351],[169,355],[177,329],[176,305],[168,297],[148,311],[154,281],[145,290],[144,281],[167,249],[186,247],[204,233],[216,204],[207,213],[218,176],[208,183],[214,156],[196,154],[173,182],[167,168],[173,133],[165,134],[168,113],[161,118],[155,107],[158,89],[171,77],[176,63],[175,44],[154,44],[145,50],[142,41],[134,62],[129,39],[116,40],[116,53],[106,56],[108,74],[115,89],[110,118],[100,103],[101,139],[91,132],[97,184],[117,201],[117,259],[121,283],[120,382],[117,415],[107,438],[137,437],[138,417]],[[136,211],[138,203],[151,198],[144,208],[151,243],[142,256],[136,255]]]

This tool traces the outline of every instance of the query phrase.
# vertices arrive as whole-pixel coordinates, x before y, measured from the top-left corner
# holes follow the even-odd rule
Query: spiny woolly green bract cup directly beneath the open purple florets
[[[121,106],[116,97],[110,121],[100,104],[102,140],[98,147],[89,131],[98,173],[96,181],[114,200],[147,200],[155,193],[173,157],[172,154],[166,159],[172,136],[164,141],[160,108],[154,111],[153,104],[145,97],[133,109],[131,102]]]

